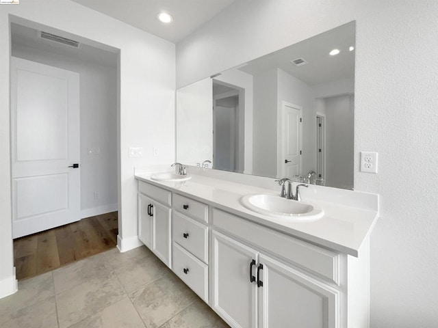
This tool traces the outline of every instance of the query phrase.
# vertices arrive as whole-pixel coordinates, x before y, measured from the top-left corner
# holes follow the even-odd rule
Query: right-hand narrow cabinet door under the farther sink
[[[153,202],[152,251],[171,268],[170,208]]]

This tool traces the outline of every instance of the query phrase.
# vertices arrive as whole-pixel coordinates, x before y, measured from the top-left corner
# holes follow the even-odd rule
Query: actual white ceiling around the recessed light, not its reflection
[[[235,0],[73,0],[173,43],[219,14]],[[173,22],[157,20],[167,12]]]

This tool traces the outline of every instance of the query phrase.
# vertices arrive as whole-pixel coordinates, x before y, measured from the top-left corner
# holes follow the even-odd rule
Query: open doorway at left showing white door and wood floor
[[[24,20],[10,23],[10,31],[12,231],[19,271],[31,258],[54,258],[55,251],[62,265],[117,243],[120,53]],[[70,90],[75,83],[77,94]],[[46,254],[33,254],[31,245]],[[65,248],[70,254],[60,254]]]

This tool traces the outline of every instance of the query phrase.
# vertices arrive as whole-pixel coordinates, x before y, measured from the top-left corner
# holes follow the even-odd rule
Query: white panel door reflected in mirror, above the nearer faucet
[[[301,174],[301,110],[292,104],[283,105],[283,177]]]

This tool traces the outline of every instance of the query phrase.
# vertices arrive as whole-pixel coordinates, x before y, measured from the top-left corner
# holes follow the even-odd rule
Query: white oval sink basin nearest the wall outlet
[[[240,202],[254,212],[270,217],[288,218],[296,222],[315,221],[324,215],[324,210],[316,204],[287,200],[279,195],[250,194],[242,197]]]

